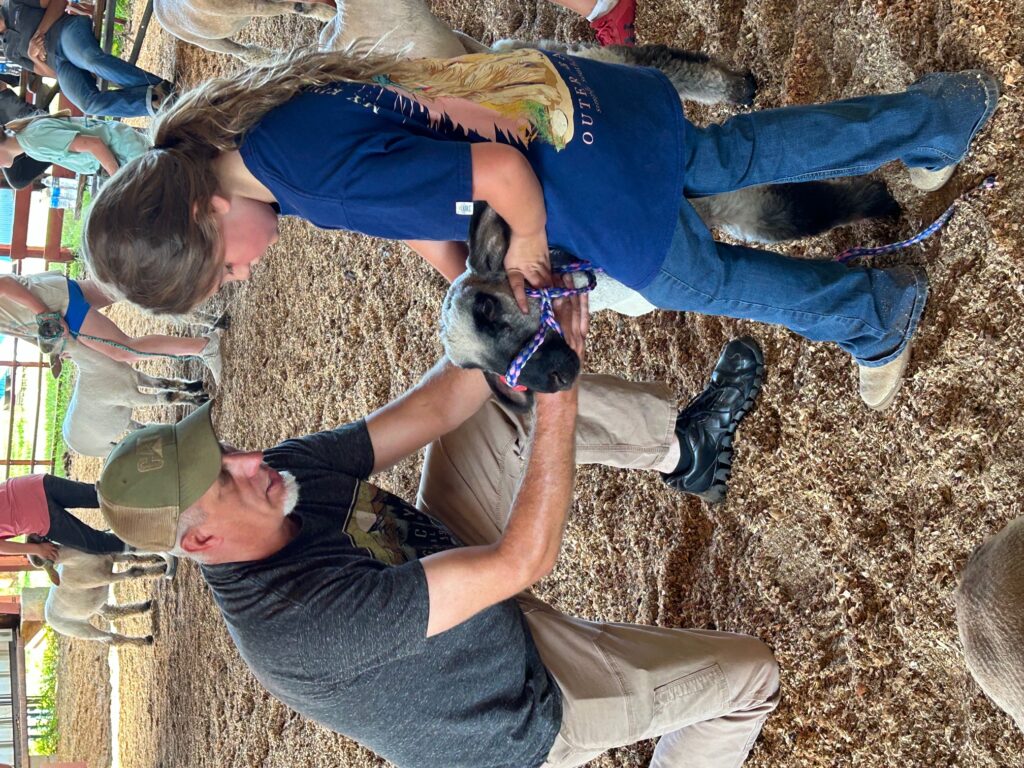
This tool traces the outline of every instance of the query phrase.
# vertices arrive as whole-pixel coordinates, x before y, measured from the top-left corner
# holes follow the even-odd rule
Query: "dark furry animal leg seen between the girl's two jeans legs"
[[[751,186],[696,198],[690,204],[708,226],[759,243],[806,238],[861,219],[897,216],[900,212],[885,183],[864,176]]]

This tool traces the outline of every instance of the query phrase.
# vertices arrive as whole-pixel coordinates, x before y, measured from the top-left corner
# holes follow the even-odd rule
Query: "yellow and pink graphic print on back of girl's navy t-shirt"
[[[424,110],[430,127],[445,133],[461,130],[522,146],[540,139],[556,151],[573,140],[578,109],[581,125],[593,125],[593,115],[583,111],[596,105],[593,98],[574,103],[573,96],[586,98],[592,92],[569,58],[534,49],[416,59],[396,65],[374,82],[379,87],[365,86],[352,100],[411,118],[417,109]],[[337,86],[311,90],[338,92]],[[585,136],[584,143],[592,143],[592,135],[590,139]]]

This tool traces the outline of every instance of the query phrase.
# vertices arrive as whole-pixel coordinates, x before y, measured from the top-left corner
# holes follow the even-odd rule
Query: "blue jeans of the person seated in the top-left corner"
[[[151,89],[163,78],[104,53],[86,16],[69,16],[60,23],[49,65],[57,83],[78,109],[87,115],[137,118],[151,114]],[[100,91],[97,78],[121,86]]]

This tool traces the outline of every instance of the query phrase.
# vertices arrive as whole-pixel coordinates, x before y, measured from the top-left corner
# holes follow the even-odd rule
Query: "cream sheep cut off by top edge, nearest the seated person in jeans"
[[[176,38],[207,50],[229,53],[249,63],[265,61],[273,51],[231,40],[254,16],[298,13],[323,22],[335,17],[325,2],[284,0],[154,0],[153,11],[161,27]]]

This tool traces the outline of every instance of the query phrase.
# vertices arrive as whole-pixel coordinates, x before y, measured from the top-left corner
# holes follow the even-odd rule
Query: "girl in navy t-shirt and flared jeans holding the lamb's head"
[[[658,72],[537,50],[402,61],[295,55],[183,95],[155,148],[99,193],[96,275],[156,311],[246,280],[278,214],[403,240],[452,280],[473,201],[508,222],[505,266],[550,284],[549,243],[655,306],[780,324],[834,341],[884,407],[924,308],[923,270],[847,267],[717,243],[687,203],[892,160],[949,177],[995,108],[980,72],[906,91],[739,115],[697,128]],[[130,172],[128,172],[130,171]]]

